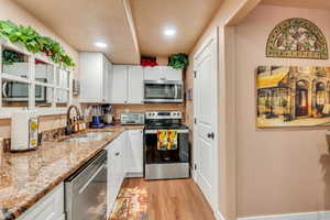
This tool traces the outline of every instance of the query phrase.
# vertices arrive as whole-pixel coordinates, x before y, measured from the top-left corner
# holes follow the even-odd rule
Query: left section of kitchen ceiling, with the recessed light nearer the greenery
[[[123,0],[14,1],[78,51],[103,52],[116,64],[140,63]],[[100,50],[95,42],[108,47]]]

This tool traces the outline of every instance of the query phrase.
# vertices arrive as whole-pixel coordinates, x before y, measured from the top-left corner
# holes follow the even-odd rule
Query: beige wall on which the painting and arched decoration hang
[[[260,6],[235,28],[238,216],[330,210],[326,128],[255,128],[254,70],[258,65],[319,65],[329,61],[266,58],[268,34],[280,21],[315,22],[330,43],[330,11]]]

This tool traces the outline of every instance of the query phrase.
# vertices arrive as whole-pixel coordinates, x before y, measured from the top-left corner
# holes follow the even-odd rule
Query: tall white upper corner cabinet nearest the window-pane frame
[[[111,63],[101,53],[80,53],[80,102],[109,102]]]

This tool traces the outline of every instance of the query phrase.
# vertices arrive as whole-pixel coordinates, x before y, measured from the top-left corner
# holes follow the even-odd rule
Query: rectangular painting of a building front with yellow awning
[[[330,67],[258,66],[256,127],[330,125]]]

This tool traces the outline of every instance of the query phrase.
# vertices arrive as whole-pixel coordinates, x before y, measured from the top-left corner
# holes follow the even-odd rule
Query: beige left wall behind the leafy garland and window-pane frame
[[[40,21],[37,21],[33,15],[28,13],[22,8],[18,7],[12,0],[0,0],[0,20],[11,20],[16,24],[30,25],[34,28],[42,35],[50,36],[56,41],[58,41],[64,50],[74,58],[76,65],[78,65],[79,54],[70,45],[66,44],[61,37],[58,37],[51,29],[43,25]],[[79,66],[75,67],[74,78],[79,78],[78,76]],[[74,99],[73,102],[78,105],[78,100]],[[54,120],[54,121],[53,121]],[[41,119],[41,129],[55,129],[56,127],[62,127],[63,117],[54,116],[54,117],[43,117]],[[0,138],[10,136],[10,120],[0,120]]]

